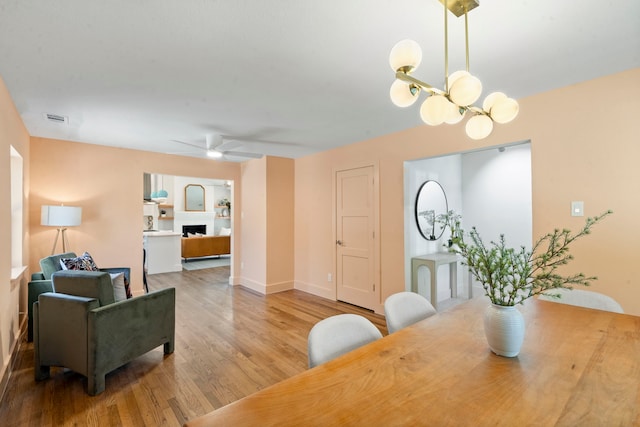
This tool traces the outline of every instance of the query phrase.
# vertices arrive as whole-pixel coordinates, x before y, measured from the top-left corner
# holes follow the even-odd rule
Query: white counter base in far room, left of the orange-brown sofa
[[[143,235],[143,245],[147,251],[147,274],[182,271],[181,233],[147,231]]]

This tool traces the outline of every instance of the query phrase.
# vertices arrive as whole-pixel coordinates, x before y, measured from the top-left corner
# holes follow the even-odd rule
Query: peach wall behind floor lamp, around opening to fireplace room
[[[68,229],[67,249],[77,253],[88,251],[99,266],[131,267],[133,291],[141,293],[144,172],[240,183],[238,163],[32,138],[31,269],[39,269],[38,261],[51,253],[55,238],[54,229],[40,225],[40,207],[58,203],[78,205],[82,206],[82,225]],[[236,200],[241,200],[241,188],[234,186]],[[232,211],[236,224],[241,206]],[[240,230],[234,233],[234,256],[241,254],[241,236]],[[239,274],[237,264],[232,272],[235,276]]]

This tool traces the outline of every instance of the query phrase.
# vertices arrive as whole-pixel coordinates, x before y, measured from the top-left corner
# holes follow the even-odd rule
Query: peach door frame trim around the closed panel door
[[[373,281],[375,285],[375,294],[376,294],[376,307],[374,307],[374,311],[376,313],[384,313],[384,305],[383,301],[381,301],[382,295],[382,283],[380,282],[381,272],[380,272],[380,165],[379,162],[370,161],[370,162],[356,162],[349,163],[345,165],[340,165],[338,167],[334,167],[331,170],[331,254],[332,254],[332,266],[331,269],[333,271],[333,299],[334,301],[338,300],[338,280],[337,280],[337,272],[338,272],[338,251],[336,246],[336,233],[338,230],[337,226],[337,201],[336,198],[338,196],[338,172],[344,172],[352,169],[360,169],[365,167],[373,167]]]

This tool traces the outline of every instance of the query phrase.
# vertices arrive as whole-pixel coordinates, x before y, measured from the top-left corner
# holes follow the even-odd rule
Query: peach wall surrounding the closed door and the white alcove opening
[[[519,100],[519,117],[484,141],[464,127],[421,126],[296,160],[295,284],[316,295],[335,295],[326,280],[333,269],[332,170],[379,162],[381,299],[404,289],[403,162],[480,147],[531,140],[533,238],[554,227],[578,229],[570,202],[583,200],[589,216],[614,215],[577,242],[568,272],[597,275],[593,289],[640,315],[640,230],[633,217],[640,158],[637,117],[640,69]],[[597,94],[597,97],[594,96]],[[598,105],[596,105],[596,102]],[[413,112],[408,111],[407,114]],[[382,306],[376,311],[382,312]]]

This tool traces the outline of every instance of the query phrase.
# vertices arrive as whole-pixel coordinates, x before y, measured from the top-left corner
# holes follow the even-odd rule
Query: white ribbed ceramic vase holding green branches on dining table
[[[515,306],[491,304],[484,312],[484,333],[491,351],[515,357],[524,341],[524,317]]]

